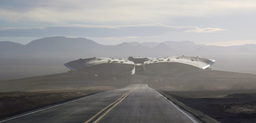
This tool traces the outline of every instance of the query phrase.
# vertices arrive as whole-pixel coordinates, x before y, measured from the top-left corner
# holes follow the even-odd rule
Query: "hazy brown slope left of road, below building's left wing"
[[[111,76],[82,76],[73,73],[61,73],[0,81],[0,92],[112,90],[113,88],[120,88],[130,84],[130,77],[118,74]]]

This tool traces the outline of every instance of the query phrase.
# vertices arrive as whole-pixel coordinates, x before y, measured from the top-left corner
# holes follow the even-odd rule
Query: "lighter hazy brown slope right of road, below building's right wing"
[[[222,75],[220,75],[220,72]],[[157,90],[203,91],[203,90],[255,90],[256,75],[209,70],[193,76],[151,76],[147,84]]]

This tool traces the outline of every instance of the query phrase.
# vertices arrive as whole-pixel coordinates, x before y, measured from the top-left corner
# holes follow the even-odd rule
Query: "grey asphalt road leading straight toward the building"
[[[2,123],[199,123],[147,84],[106,91]]]

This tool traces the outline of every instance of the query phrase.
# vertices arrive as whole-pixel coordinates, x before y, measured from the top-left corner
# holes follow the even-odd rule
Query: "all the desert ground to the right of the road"
[[[157,78],[150,79],[149,86],[174,103],[195,109],[198,117],[206,114],[222,123],[256,122],[254,74],[208,70],[185,77],[158,78],[160,81],[156,81]]]

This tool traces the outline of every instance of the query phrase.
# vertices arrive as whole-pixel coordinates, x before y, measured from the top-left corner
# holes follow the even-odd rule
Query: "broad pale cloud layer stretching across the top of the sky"
[[[255,12],[255,0],[5,0],[0,20],[54,24],[163,22],[184,16],[205,17]]]

